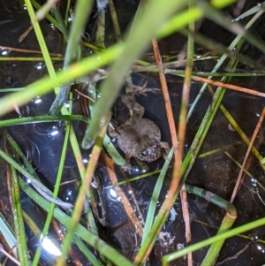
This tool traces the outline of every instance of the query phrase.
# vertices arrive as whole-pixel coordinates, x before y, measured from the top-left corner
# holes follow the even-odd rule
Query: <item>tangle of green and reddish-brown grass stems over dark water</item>
[[[141,0],[132,22],[124,33],[118,23],[119,13],[116,12],[118,1],[98,0],[96,4],[91,0],[79,0],[76,3],[70,0],[65,1],[65,3],[57,2],[49,0],[46,4],[43,4],[35,0],[25,0],[25,3],[20,7],[25,7],[32,25],[27,33],[23,35],[23,38],[27,38],[27,34],[34,31],[41,49],[41,58],[1,57],[2,61],[31,60],[32,62],[38,58],[38,60],[44,61],[48,71],[45,77],[38,80],[35,78],[34,82],[30,82],[26,87],[16,87],[15,90],[14,88],[2,88],[2,92],[6,95],[0,99],[0,106],[2,107],[0,110],[2,116],[1,127],[10,128],[14,125],[27,126],[32,124],[35,126],[44,125],[45,123],[58,123],[56,126],[55,124],[52,125],[57,128],[57,131],[62,127],[63,140],[60,142],[60,154],[57,154],[56,177],[52,178],[54,187],[49,187],[52,188],[52,191],[50,191],[44,185],[45,182],[42,184],[40,170],[37,165],[31,162],[31,157],[24,150],[25,147],[19,147],[11,133],[8,130],[3,130],[4,142],[2,149],[0,149],[0,156],[4,160],[3,162],[8,163],[6,179],[11,199],[13,222],[8,223],[10,221],[4,219],[5,214],[1,214],[0,230],[5,243],[0,251],[4,253],[5,249],[5,255],[12,257],[20,265],[38,265],[42,257],[41,260],[45,265],[64,265],[66,263],[83,263],[84,265],[90,265],[89,263],[91,265],[143,265],[145,263],[147,265],[148,263],[151,263],[151,265],[177,265],[179,262],[183,265],[200,263],[200,265],[207,266],[216,263],[218,255],[222,254],[223,243],[226,239],[235,236],[246,239],[247,242],[244,247],[241,247],[242,253],[254,242],[257,245],[263,244],[263,239],[257,239],[244,233],[264,224],[265,218],[262,217],[264,213],[255,214],[246,223],[238,223],[237,209],[240,209],[240,202],[234,201],[246,175],[249,177],[248,180],[252,182],[252,188],[249,188],[249,191],[257,195],[264,209],[264,202],[261,198],[262,193],[264,194],[264,185],[262,184],[265,180],[262,176],[261,179],[255,177],[249,171],[250,166],[247,164],[247,159],[251,156],[252,162],[254,160],[256,160],[254,162],[258,162],[255,163],[255,167],[258,165],[260,171],[264,170],[264,159],[261,151],[262,136],[259,136],[259,131],[265,111],[262,109],[263,105],[260,104],[256,116],[250,118],[251,122],[247,122],[248,125],[255,123],[256,126],[254,129],[249,129],[245,125],[240,125],[236,111],[231,109],[230,113],[229,109],[232,104],[229,100],[225,100],[224,96],[226,91],[233,90],[244,94],[244,96],[254,97],[254,99],[264,97],[262,88],[255,90],[246,85],[231,84],[231,80],[242,77],[245,79],[251,77],[262,79],[265,75],[262,60],[256,60],[256,58],[248,56],[246,52],[251,49],[253,51],[258,50],[259,54],[265,54],[264,42],[256,36],[255,32],[250,32],[255,23],[262,18],[263,5],[265,6],[265,4],[254,6],[231,21],[224,10],[231,8],[232,5],[233,9],[236,10],[235,12],[239,13],[240,4],[237,4],[235,0],[213,0],[209,2]],[[241,1],[239,0],[239,2]],[[108,39],[112,44],[107,43],[107,35],[105,35],[105,15],[109,12],[116,40],[114,42]],[[123,15],[126,16],[126,14]],[[88,19],[90,20],[88,21]],[[231,43],[222,44],[199,33],[195,26],[200,25],[202,19],[208,19],[208,25],[216,24],[226,29],[226,33],[231,32],[228,38]],[[239,24],[240,19],[244,19],[242,24]],[[64,57],[49,52],[49,42],[45,41],[47,36],[44,37],[45,34],[43,34],[43,21],[49,21],[49,27],[53,28],[52,30],[60,36],[60,46],[64,50]],[[70,24],[69,21],[71,21]],[[90,40],[85,39],[87,21],[88,25],[90,25],[89,23],[93,24],[95,30],[93,36],[90,36]],[[163,46],[162,43],[174,34],[185,36],[187,40],[185,48],[178,51],[178,55],[174,55],[174,57],[170,57],[170,55],[165,57],[160,50]],[[233,36],[233,39],[231,36]],[[152,60],[148,60],[144,56],[147,55],[147,51],[151,47],[152,56],[154,55],[155,59],[152,57]],[[14,48],[8,49],[15,51]],[[198,50],[203,52],[199,55],[199,53],[196,53]],[[20,49],[18,52],[24,52],[24,50]],[[63,65],[60,65],[60,62]],[[198,71],[198,67],[203,65],[204,62],[210,62],[209,65],[211,66],[214,62],[215,65],[210,70],[207,66],[207,71]],[[117,169],[119,169],[122,176],[127,177],[128,173],[121,173],[120,170],[125,165],[125,158],[120,155],[116,146],[110,141],[108,134],[113,106],[117,103],[124,86],[125,90],[133,90],[134,92],[139,89],[141,94],[146,94],[149,91],[155,92],[155,88],[147,86],[147,83],[141,86],[134,85],[132,75],[135,73],[151,73],[153,77],[154,75],[159,77],[163,95],[163,108],[166,113],[164,117],[167,118],[167,121],[163,121],[163,125],[166,125],[166,129],[163,130],[170,132],[170,140],[168,141],[170,141],[171,147],[163,166],[160,167],[161,165],[157,164],[159,169],[117,182]],[[171,91],[169,89],[168,85],[171,77],[177,77],[178,80],[181,80],[182,85],[179,95],[176,90]],[[200,84],[200,89],[191,100],[193,82]],[[74,87],[81,87],[81,89],[76,92],[73,89]],[[49,103],[49,110],[46,113],[27,116],[27,113],[21,112],[23,106],[49,94],[52,90],[57,96],[52,103]],[[175,107],[178,104],[172,101],[171,93],[175,93],[180,98],[177,111],[173,111],[176,110]],[[75,94],[78,96],[74,96]],[[195,117],[196,112],[201,108],[201,101],[204,101],[201,98],[205,94],[208,94],[210,100],[207,102],[207,106],[203,103],[203,114]],[[232,96],[231,99],[233,99]],[[76,103],[85,110],[76,114]],[[152,105],[153,103],[148,102],[148,104]],[[14,109],[17,111],[16,118],[4,117]],[[211,130],[213,131],[215,125],[220,121],[215,120],[218,116],[228,120],[230,133],[238,133],[239,139],[237,141],[233,139],[219,143],[219,136],[211,134]],[[81,137],[76,129],[77,125],[83,125]],[[194,127],[196,127],[195,131]],[[193,132],[190,133],[191,131]],[[229,136],[228,133],[225,133],[223,124],[220,129],[217,129],[217,133],[224,134],[225,137],[226,135]],[[207,136],[213,138],[213,141],[206,142]],[[53,135],[50,134],[49,137],[52,140]],[[51,145],[53,145],[52,143]],[[204,145],[205,143],[207,145]],[[215,146],[211,146],[212,143]],[[239,146],[243,149],[247,147],[246,151],[239,151],[237,149]],[[70,153],[73,154],[78,167],[78,174],[72,174],[71,172],[72,177],[75,177],[72,180],[74,182],[72,186],[77,191],[77,195],[72,202],[68,201],[67,197],[65,201],[60,200],[58,196],[59,190],[65,185],[62,181],[66,168],[64,163],[65,158]],[[225,171],[224,168],[227,165],[225,164],[222,169],[223,172],[218,172],[218,175],[222,173],[223,177],[214,179],[217,182],[214,182],[213,186],[212,181],[207,183],[207,178],[197,177],[198,179],[192,179],[196,175],[207,175],[208,172],[206,170],[201,171],[200,167],[215,168],[216,160],[216,168],[222,168],[223,161],[221,162],[218,157],[217,159],[215,157],[220,154],[223,156],[222,160],[229,160],[229,163],[233,164],[233,169],[236,170],[231,171],[229,169],[229,171]],[[239,154],[240,156],[238,156]],[[242,156],[242,154],[244,155]],[[84,160],[85,157],[87,161]],[[201,158],[207,158],[209,164],[201,163],[203,164],[201,165]],[[49,160],[46,162],[49,163]],[[4,165],[4,163],[2,164]],[[196,172],[192,171],[195,167],[194,164]],[[5,167],[3,165],[2,167]],[[45,167],[49,168],[49,165]],[[111,186],[101,186],[102,180],[98,179],[99,168],[102,168],[102,171],[108,176]],[[232,175],[238,172],[238,179],[233,179]],[[70,173],[68,174],[70,175]],[[212,174],[216,175],[214,169]],[[134,195],[129,197],[122,187],[125,184],[131,187],[133,182],[142,179],[147,180],[154,175],[158,175],[158,178],[155,179],[154,190],[148,199],[148,210],[141,211],[139,202],[135,200],[137,197]],[[224,184],[223,180],[227,180],[225,179],[227,176],[230,176],[234,181],[227,181],[229,184]],[[186,184],[187,179],[191,180],[189,184]],[[200,179],[203,179],[203,185],[201,185]],[[29,184],[32,186],[29,186]],[[244,186],[248,185],[245,184]],[[129,255],[125,253],[123,247],[117,247],[118,245],[108,239],[108,233],[110,234],[110,232],[106,229],[108,228],[108,212],[106,214],[105,209],[108,209],[108,206],[104,206],[105,191],[108,188],[111,188],[118,195],[120,208],[122,206],[125,210],[127,220],[133,224],[134,232],[136,232],[135,236],[133,234],[128,235],[128,238],[136,239],[135,247],[128,247]],[[21,194],[22,191],[23,194]],[[225,193],[222,194],[222,192]],[[130,191],[130,193],[132,192]],[[189,216],[191,208],[188,207],[186,193],[195,194],[225,210],[224,215],[223,213],[218,214],[218,217],[222,216],[222,218],[218,221],[217,229],[215,228],[215,236],[208,236],[201,241],[192,239],[193,228],[191,229]],[[42,230],[39,229],[41,226],[34,224],[27,211],[21,208],[20,197],[23,196],[24,198],[25,194],[45,211],[45,215],[47,214],[45,222],[42,222],[44,224]],[[178,197],[181,199],[183,215],[181,223],[184,221],[185,225],[182,224],[182,227],[178,225],[177,228],[179,231],[183,231],[185,228],[186,239],[182,239],[185,244],[181,246],[178,243],[181,246],[178,246],[178,248],[176,243],[171,245],[173,248],[161,248],[163,250],[162,255],[155,256],[156,241],[157,239],[164,239],[163,228],[173,219],[171,217],[174,216],[172,210],[176,208]],[[180,210],[180,208],[178,209]],[[4,209],[2,208],[1,211],[4,212]],[[241,210],[239,210],[239,215],[244,217]],[[180,213],[178,213],[178,216],[180,216]],[[245,221],[245,219],[243,220]],[[198,224],[200,223],[202,224],[202,222],[198,222]],[[234,226],[234,223],[238,224]],[[31,252],[28,251],[29,245],[27,245],[25,224],[34,234],[37,243],[42,244],[34,248],[34,253],[32,249]],[[117,229],[121,226],[120,224],[117,224]],[[52,238],[50,236],[51,225],[53,226],[53,232],[57,232],[59,235],[58,239],[60,241],[54,241],[52,244],[54,249],[58,250],[58,253],[46,258],[45,252],[43,255],[43,248],[47,238]],[[208,228],[214,225],[208,223],[203,224],[203,226]],[[125,238],[128,232],[125,232],[122,237]],[[184,232],[174,232],[172,230],[170,238],[165,240],[167,245],[170,246],[170,241],[174,241],[180,233],[184,235]],[[59,247],[59,242],[62,244],[61,247]],[[197,258],[194,260],[193,252],[204,247],[208,247],[208,249],[207,251],[204,250],[203,258],[198,259],[198,261],[196,261]],[[79,252],[76,252],[77,249]],[[240,252],[234,254],[234,256],[238,257]],[[152,255],[155,256],[155,262],[150,259]],[[177,261],[179,258],[182,258],[182,260]],[[231,255],[226,255],[226,258],[220,259],[217,264],[221,265],[230,260],[232,260]],[[174,264],[175,262],[177,264]],[[264,263],[265,258],[259,262]]]

